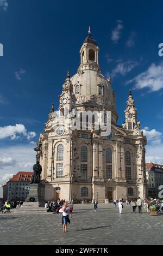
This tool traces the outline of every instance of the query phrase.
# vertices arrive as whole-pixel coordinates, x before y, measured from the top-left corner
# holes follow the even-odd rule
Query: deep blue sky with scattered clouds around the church
[[[118,124],[132,88],[147,161],[163,163],[161,1],[0,0],[0,183],[31,171],[33,147],[52,102],[58,108],[66,71],[77,72],[89,26],[102,74],[112,78]]]

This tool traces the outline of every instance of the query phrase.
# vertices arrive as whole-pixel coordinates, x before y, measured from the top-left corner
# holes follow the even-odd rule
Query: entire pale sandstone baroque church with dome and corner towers
[[[62,86],[59,109],[52,105],[44,133],[35,148],[42,165],[45,200],[65,199],[71,203],[113,199],[146,198],[146,137],[137,122],[131,91],[124,111],[125,122],[117,124],[115,93],[98,63],[99,47],[89,34],[80,49],[77,73]],[[71,129],[65,125],[66,112],[111,111],[111,133]],[[72,119],[73,117],[68,117]]]

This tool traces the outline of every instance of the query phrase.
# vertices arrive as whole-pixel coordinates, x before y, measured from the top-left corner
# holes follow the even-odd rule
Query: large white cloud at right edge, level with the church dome
[[[159,65],[152,63],[151,66],[141,74],[126,82],[133,83],[136,89],[149,88],[149,92],[156,92],[163,88],[163,62]]]

